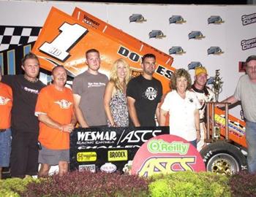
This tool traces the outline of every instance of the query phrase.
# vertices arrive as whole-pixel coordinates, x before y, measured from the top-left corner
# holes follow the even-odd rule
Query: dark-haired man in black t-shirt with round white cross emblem
[[[156,69],[156,56],[148,53],[143,56],[143,74],[133,78],[127,85],[129,125],[155,126],[154,116],[159,120],[159,103],[162,97],[162,84],[153,77]]]

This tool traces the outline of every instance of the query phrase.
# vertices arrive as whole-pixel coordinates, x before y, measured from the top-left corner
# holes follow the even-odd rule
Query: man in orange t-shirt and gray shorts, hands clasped
[[[39,120],[39,177],[47,176],[50,166],[59,164],[59,175],[68,170],[69,134],[76,123],[72,90],[65,87],[67,72],[63,66],[52,71],[53,84],[38,96],[35,115]]]

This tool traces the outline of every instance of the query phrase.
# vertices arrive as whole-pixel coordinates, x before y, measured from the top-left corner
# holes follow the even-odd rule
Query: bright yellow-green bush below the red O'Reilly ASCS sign
[[[229,178],[210,172],[177,172],[152,179],[149,185],[152,197],[230,196]]]

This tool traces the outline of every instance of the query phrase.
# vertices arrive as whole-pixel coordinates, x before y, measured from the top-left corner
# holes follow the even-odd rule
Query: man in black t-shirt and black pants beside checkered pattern
[[[13,94],[11,175],[23,178],[36,175],[38,171],[39,123],[34,109],[38,93],[45,85],[37,79],[39,60],[36,55],[28,53],[21,64],[24,75],[5,75],[1,82],[10,85]]]

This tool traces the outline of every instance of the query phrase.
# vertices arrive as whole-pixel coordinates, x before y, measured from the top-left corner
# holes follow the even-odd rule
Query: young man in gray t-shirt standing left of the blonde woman
[[[75,115],[83,128],[107,125],[103,96],[108,77],[98,72],[98,50],[91,49],[86,52],[86,64],[88,70],[75,77],[72,85]]]

